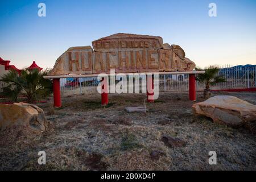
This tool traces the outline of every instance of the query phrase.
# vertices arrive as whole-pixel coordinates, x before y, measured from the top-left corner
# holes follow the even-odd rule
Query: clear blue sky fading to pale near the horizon
[[[46,17],[38,4],[46,3]],[[217,17],[208,15],[209,3]],[[69,47],[118,32],[162,36],[200,67],[256,64],[254,0],[0,1],[0,57],[25,68],[53,67]]]

